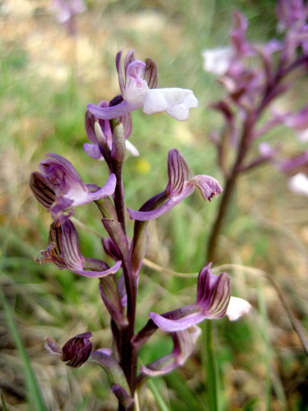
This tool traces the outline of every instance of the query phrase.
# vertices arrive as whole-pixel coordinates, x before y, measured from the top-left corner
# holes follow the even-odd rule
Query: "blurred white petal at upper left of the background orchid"
[[[222,76],[230,66],[234,52],[230,47],[209,48],[202,53],[204,62],[203,69],[206,72]]]

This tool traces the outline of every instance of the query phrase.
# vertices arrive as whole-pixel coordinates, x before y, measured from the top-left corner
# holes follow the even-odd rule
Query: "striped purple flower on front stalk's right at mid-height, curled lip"
[[[131,219],[148,221],[160,217],[185,197],[192,194],[194,186],[197,186],[203,198],[209,201],[223,191],[218,181],[209,175],[196,175],[193,177],[186,160],[175,148],[168,153],[168,176],[169,182],[165,193],[169,199],[161,207],[152,211],[136,211],[128,208]]]

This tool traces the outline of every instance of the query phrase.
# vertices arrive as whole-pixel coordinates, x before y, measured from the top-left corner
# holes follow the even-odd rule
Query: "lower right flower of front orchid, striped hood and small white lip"
[[[194,304],[162,315],[150,312],[149,317],[157,327],[168,332],[186,330],[205,319],[221,318],[224,315],[230,320],[237,320],[242,314],[249,312],[251,305],[242,298],[230,296],[228,274],[213,274],[211,263],[208,263],[199,273]]]

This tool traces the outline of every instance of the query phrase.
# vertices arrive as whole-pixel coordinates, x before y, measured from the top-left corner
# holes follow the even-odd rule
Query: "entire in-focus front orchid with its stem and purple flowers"
[[[121,68],[122,52],[116,57],[121,94],[110,103],[102,100],[98,106],[88,106],[85,128],[91,143],[85,143],[85,153],[95,162],[108,168],[109,178],[100,188],[85,184],[73,165],[56,154],[34,172],[30,187],[37,200],[51,213],[48,246],[41,251],[41,264],[54,263],[61,270],[99,280],[98,291],[110,315],[113,349],[94,349],[91,332],[69,339],[62,349],[47,337],[46,349],[71,367],[84,363],[100,365],[108,375],[110,390],[117,397],[119,411],[133,409],[136,388],[150,376],[165,375],[184,365],[193,353],[200,335],[198,323],[227,315],[235,320],[250,309],[248,302],[231,297],[230,279],[222,272],[216,276],[207,263],[199,272],[195,302],[158,314],[149,312],[149,320],[136,332],[136,304],[140,270],[149,244],[149,220],[160,217],[192,195],[197,187],[205,201],[222,192],[218,181],[209,175],[193,175],[184,156],[177,150],[168,153],[163,191],[147,200],[139,210],[128,208],[134,219],[133,238],[126,234],[124,187],[122,180],[126,149],[133,155],[138,150],[128,141],[132,132],[131,112],[143,107],[147,114],[166,111],[183,121],[189,109],[198,101],[191,90],[158,89],[157,67],[148,58],[136,60],[133,50],[124,59],[125,82]],[[101,222],[108,233],[102,238],[106,254],[114,265],[81,254],[77,230],[70,217],[74,208],[94,202],[101,212]],[[118,273],[121,270],[122,272]],[[137,369],[140,347],[156,330],[170,333],[174,348],[171,353]],[[214,375],[214,374],[213,374]],[[214,378],[214,377],[213,377]]]

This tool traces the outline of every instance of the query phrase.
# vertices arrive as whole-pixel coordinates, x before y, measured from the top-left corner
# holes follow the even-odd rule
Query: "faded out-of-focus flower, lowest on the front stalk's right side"
[[[148,365],[140,367],[140,373],[148,376],[165,375],[175,368],[184,365],[187,358],[193,353],[196,342],[201,334],[197,326],[191,326],[186,330],[172,332],[174,349],[172,353],[159,358]]]

